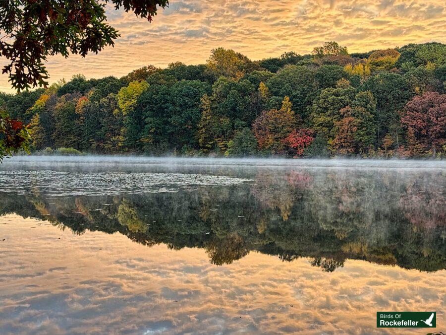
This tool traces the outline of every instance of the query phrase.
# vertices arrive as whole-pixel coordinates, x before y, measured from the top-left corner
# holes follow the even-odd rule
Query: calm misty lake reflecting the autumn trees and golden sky
[[[0,334],[445,332],[445,196],[445,161],[5,159]]]

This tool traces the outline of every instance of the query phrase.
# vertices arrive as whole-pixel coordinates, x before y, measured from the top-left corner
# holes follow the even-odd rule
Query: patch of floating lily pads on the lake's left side
[[[48,197],[100,196],[193,191],[199,187],[235,185],[246,178],[183,173],[0,171],[0,191],[21,195],[36,188]]]

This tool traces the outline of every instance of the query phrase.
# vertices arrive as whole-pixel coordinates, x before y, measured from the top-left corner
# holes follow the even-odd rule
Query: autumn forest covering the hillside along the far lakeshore
[[[442,158],[446,45],[261,61],[217,48],[202,65],[0,93],[0,112],[36,153]]]

